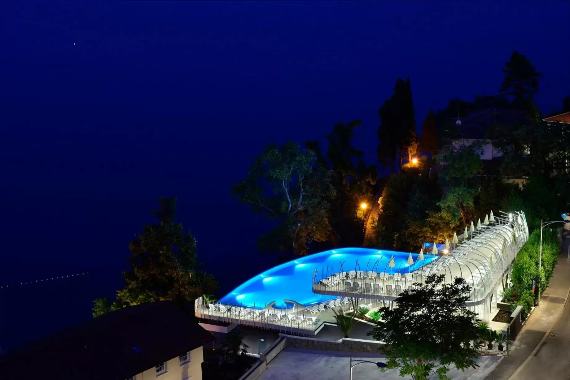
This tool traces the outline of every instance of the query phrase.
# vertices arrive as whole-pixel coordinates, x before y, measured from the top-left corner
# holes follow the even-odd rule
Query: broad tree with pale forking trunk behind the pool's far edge
[[[260,247],[304,255],[308,244],[330,235],[328,199],[335,196],[332,173],[315,165],[315,160],[313,150],[301,150],[291,141],[279,147],[268,145],[246,178],[234,186],[239,202],[277,224],[268,236],[282,236],[276,241],[284,245],[270,246],[262,238]]]

